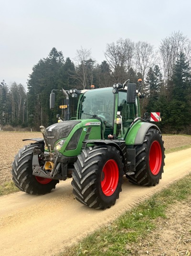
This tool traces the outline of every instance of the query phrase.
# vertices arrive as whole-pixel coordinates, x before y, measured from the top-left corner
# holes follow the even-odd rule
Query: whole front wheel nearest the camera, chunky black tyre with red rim
[[[110,208],[119,198],[123,175],[122,157],[115,147],[83,149],[72,174],[75,198],[91,208]]]

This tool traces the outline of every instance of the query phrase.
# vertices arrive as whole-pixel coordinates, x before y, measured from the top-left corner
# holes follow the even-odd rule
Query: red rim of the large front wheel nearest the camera
[[[116,191],[118,179],[118,165],[114,160],[110,159],[104,165],[101,173],[101,188],[107,197],[111,196]]]

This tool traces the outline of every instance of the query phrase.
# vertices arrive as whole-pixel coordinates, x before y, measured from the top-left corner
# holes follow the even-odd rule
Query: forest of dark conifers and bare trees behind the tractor
[[[16,81],[8,86],[0,82],[0,128],[21,127],[38,131],[57,121],[64,105],[62,93],[56,93],[55,109],[50,109],[53,89],[90,89],[109,87],[127,79],[137,83],[142,79],[140,99],[142,116],[145,112],[160,112],[159,128],[166,134],[191,134],[191,40],[180,31],[161,39],[158,48],[148,42],[133,42],[119,38],[108,43],[105,59],[97,63],[91,50],[81,47],[72,61],[64,58],[55,47],[47,58],[32,68],[27,90]],[[71,100],[72,116],[77,99]]]

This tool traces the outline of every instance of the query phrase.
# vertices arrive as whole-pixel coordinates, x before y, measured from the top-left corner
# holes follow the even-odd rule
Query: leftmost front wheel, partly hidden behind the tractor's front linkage
[[[40,143],[31,143],[24,146],[15,156],[12,164],[12,181],[21,190],[33,195],[43,195],[50,193],[59,180],[42,178],[32,175],[32,156],[33,148],[38,146],[43,152],[44,145]],[[41,156],[39,156],[40,165],[43,165]]]

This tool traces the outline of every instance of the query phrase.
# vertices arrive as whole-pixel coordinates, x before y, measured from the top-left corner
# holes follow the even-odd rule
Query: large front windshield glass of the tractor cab
[[[97,115],[113,126],[114,94],[112,89],[107,87],[85,92],[81,101],[79,119],[87,119]]]

